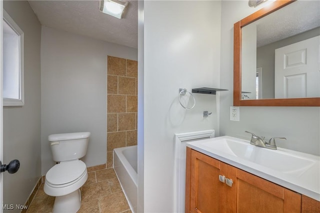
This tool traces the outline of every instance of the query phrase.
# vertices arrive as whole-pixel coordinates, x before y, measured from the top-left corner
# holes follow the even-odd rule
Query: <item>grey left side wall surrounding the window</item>
[[[18,159],[20,168],[3,174],[3,204],[23,205],[41,174],[41,25],[28,1],[3,1],[3,8],[24,32],[24,106],[3,107],[3,163]]]

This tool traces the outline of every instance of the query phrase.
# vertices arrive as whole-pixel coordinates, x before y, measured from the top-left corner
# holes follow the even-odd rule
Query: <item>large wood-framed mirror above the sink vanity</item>
[[[272,41],[272,39],[273,39],[272,38],[272,39],[270,39],[270,41],[268,41],[269,43],[265,44],[265,42],[267,42],[267,40],[269,40],[269,39],[266,39],[266,38],[263,39],[260,37],[263,37],[265,34],[267,34],[267,32],[265,32],[265,31],[262,32],[262,34],[263,34],[263,36],[262,36],[261,32],[258,31],[258,29],[259,29],[258,27],[260,27],[260,29],[261,29],[261,26],[258,26],[258,25],[260,24],[260,22],[262,22],[263,19],[268,20],[268,18],[271,18],[271,20],[273,20],[273,21],[269,21],[268,22],[269,24],[272,23],[274,25],[274,23],[284,21],[284,25],[288,25],[288,22],[290,22],[291,20],[290,20],[290,18],[286,18],[287,11],[285,11],[284,9],[286,9],[286,10],[291,9],[292,10],[292,8],[293,8],[292,6],[294,4],[296,4],[297,2],[303,3],[303,2],[308,2],[308,1],[275,0],[272,3],[269,3],[269,5],[261,8],[260,10],[252,13],[251,15],[234,23],[234,37],[233,37],[233,39],[234,39],[233,40],[234,41],[234,43],[233,43],[233,105],[234,106],[320,106],[320,67],[319,67],[320,63],[319,63],[318,59],[316,59],[317,63],[315,63],[315,69],[312,69],[313,73],[309,75],[309,76],[311,76],[309,78],[311,78],[311,79],[313,78],[313,81],[312,81],[312,83],[308,84],[308,86],[307,86],[307,82],[308,82],[307,77],[308,76],[305,73],[302,73],[302,74],[299,73],[298,74],[299,77],[295,77],[296,75],[292,74],[292,72],[290,72],[286,76],[280,75],[280,77],[278,77],[278,73],[281,73],[281,71],[274,70],[274,69],[276,69],[276,67],[275,67],[276,64],[283,64],[283,63],[288,64],[287,66],[284,64],[283,65],[284,67],[292,66],[295,70],[296,69],[298,69],[298,70],[304,69],[304,67],[305,67],[304,63],[306,63],[305,61],[309,62],[310,59],[304,59],[304,58],[302,58],[301,55],[303,55],[303,57],[304,57],[305,55],[314,55],[314,54],[310,54],[310,53],[306,53],[306,52],[301,53],[300,50],[298,53],[281,53],[281,51],[279,49],[282,49],[282,47],[277,48],[277,49],[274,49],[274,47],[273,47],[273,50],[272,50],[273,51],[272,52],[273,64],[272,64],[272,62],[267,62],[268,64],[272,64],[271,66],[273,66],[273,70],[272,70],[273,73],[271,74],[271,75],[273,75],[273,79],[271,78],[271,80],[269,80],[269,83],[268,83],[268,86],[270,87],[270,89],[267,87],[262,88],[261,77],[260,77],[260,79],[258,77],[259,73],[260,74],[263,73],[264,75],[262,74],[262,76],[264,78],[268,78],[267,77],[267,73],[268,73],[267,68],[258,67],[258,65],[257,65],[257,60],[258,60],[258,58],[257,58],[258,53],[257,52],[261,51],[261,50],[258,50],[258,47],[260,47],[261,45],[263,45],[263,46],[268,45],[268,44],[270,44],[270,42],[271,43],[277,42],[277,43],[281,43],[281,45],[282,45],[283,43],[287,42],[285,39],[288,38],[288,35],[283,35],[282,37],[280,37],[280,39]],[[303,36],[304,36],[304,32],[307,31],[307,33],[309,33],[309,35],[307,35],[307,36],[309,36],[309,38],[314,37],[313,40],[315,39],[315,42],[316,42],[315,44],[314,43],[311,44],[311,46],[315,46],[315,48],[316,48],[315,54],[317,54],[317,55],[315,56],[315,58],[316,57],[320,58],[320,56],[318,55],[318,54],[320,54],[319,53],[320,21],[318,19],[320,16],[320,14],[319,14],[320,10],[318,10],[318,6],[320,5],[320,3],[318,1],[312,1],[312,2],[315,3],[315,5],[310,5],[309,8],[313,8],[313,7],[316,7],[316,8],[315,8],[315,15],[312,14],[313,16],[311,19],[313,22],[315,22],[315,25],[318,24],[317,26],[314,26],[312,24],[310,25],[310,24],[303,23],[303,21],[301,19],[293,17],[291,19],[299,19],[299,22],[302,22],[303,27],[304,27],[304,25],[310,25],[309,28],[303,29],[303,33],[298,31],[298,30],[300,30],[300,28],[303,28],[303,27],[302,26],[299,27],[298,25],[296,25],[296,23],[294,23],[294,27],[291,27],[291,28],[287,27],[287,26],[280,26],[278,28],[280,28],[281,30],[288,28],[287,31],[290,31],[290,32],[297,30],[297,32],[295,34],[289,35],[290,36],[289,39],[291,39],[293,41],[294,40],[296,41],[296,39],[297,39],[296,37],[300,36],[301,34],[303,34]],[[317,5],[316,3],[319,5]],[[302,8],[305,8],[305,6],[303,5],[303,7],[301,7],[301,5],[297,5],[297,8],[295,9],[295,11],[289,10],[289,13],[292,14],[293,16],[297,16],[298,13],[301,13],[301,17],[304,17],[306,12],[312,13],[312,12],[309,12],[309,10],[302,11],[303,10]],[[302,12],[304,12],[304,13],[302,13]],[[278,13],[278,14],[282,13],[286,16],[284,16],[284,17],[274,16],[276,13]],[[306,18],[306,19],[310,19],[310,18]],[[274,31],[275,28],[277,28],[277,27],[275,25],[274,26],[273,25],[262,26],[262,28],[265,28],[266,30],[268,30],[270,32],[269,34],[271,34],[272,36],[274,36],[275,34],[281,34],[282,32],[277,33],[276,31]],[[282,33],[282,34],[285,34],[285,33]],[[246,40],[244,40],[244,38],[246,38]],[[301,39],[301,38],[299,38],[299,39]],[[305,39],[305,40],[308,40],[308,39]],[[294,42],[294,43],[299,43],[299,42],[300,41]],[[249,43],[249,45],[248,45],[249,47],[246,46],[247,43]],[[286,45],[286,47],[287,46],[289,46],[289,45]],[[316,50],[317,50],[317,53],[316,53]],[[281,58],[281,60],[283,60],[283,61],[278,61],[279,59],[277,59],[277,57],[274,57],[274,54],[276,54],[275,52],[278,52],[278,51],[280,51],[279,58]],[[293,51],[291,50],[291,52],[293,52]],[[288,56],[292,56],[293,59],[288,58]],[[294,60],[298,60],[298,61],[296,62]],[[299,65],[300,62],[303,63],[301,66]],[[280,65],[280,66],[282,66],[282,65]],[[265,70],[263,70],[265,72],[261,71],[263,68],[265,69]],[[248,70],[249,74],[246,72],[246,70]],[[290,76],[290,77],[287,77],[287,76]],[[300,76],[302,76],[302,77],[300,77]],[[252,83],[251,83],[251,81],[249,81],[250,85],[247,86],[245,84],[246,83],[245,81],[247,81],[247,79],[249,79],[249,78],[253,79],[253,80],[252,80]],[[277,78],[279,78],[280,80],[277,80]],[[278,85],[278,82],[280,82],[281,84]],[[310,85],[314,86],[314,89],[310,93],[308,93],[308,91],[306,91],[306,88],[309,88]],[[280,92],[278,91],[279,88],[280,88]],[[271,94],[271,96],[268,96],[267,89],[270,90],[268,93]],[[263,95],[262,95],[261,90],[264,91]],[[283,91],[283,90],[285,90],[285,91]],[[273,97],[272,97],[272,94],[274,95]]]

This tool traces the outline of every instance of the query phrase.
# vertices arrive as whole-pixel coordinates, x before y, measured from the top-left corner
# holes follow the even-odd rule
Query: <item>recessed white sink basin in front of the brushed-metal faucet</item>
[[[217,140],[203,142],[202,145],[283,173],[302,174],[315,164],[315,160],[298,156],[281,149],[272,150],[258,147],[250,144],[249,141],[238,138],[221,137]]]

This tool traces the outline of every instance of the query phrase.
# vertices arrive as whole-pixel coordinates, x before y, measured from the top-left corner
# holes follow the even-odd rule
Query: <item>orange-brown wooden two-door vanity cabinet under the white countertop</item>
[[[185,212],[301,212],[301,194],[189,147],[186,153]]]

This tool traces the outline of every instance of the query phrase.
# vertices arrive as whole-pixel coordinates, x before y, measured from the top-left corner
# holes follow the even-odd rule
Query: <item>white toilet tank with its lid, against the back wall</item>
[[[53,160],[79,159],[86,154],[90,132],[50,134],[48,136]]]

